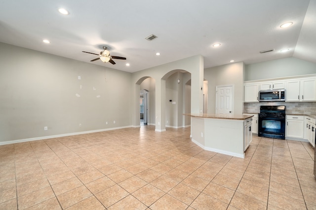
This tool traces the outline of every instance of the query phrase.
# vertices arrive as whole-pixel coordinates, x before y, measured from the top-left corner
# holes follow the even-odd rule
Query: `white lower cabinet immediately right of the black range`
[[[285,138],[304,139],[304,116],[286,115]]]

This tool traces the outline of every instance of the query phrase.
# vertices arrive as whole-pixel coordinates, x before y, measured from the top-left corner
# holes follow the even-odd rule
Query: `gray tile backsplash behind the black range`
[[[286,114],[301,114],[316,116],[316,102],[284,102],[271,101],[259,103],[244,103],[244,113],[260,113],[260,106],[285,106]]]

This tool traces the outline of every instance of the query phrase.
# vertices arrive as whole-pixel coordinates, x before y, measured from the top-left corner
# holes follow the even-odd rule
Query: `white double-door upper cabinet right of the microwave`
[[[316,101],[316,79],[286,82],[286,101]]]

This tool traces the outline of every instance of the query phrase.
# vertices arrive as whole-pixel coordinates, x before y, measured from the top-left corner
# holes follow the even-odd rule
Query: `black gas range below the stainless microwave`
[[[260,106],[258,136],[285,139],[285,106]]]

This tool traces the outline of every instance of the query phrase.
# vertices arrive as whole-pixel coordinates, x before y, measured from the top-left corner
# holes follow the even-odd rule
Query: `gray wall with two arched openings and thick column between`
[[[170,70],[173,69],[173,70]],[[185,70],[183,70],[185,69]],[[176,60],[170,63],[162,64],[159,66],[151,67],[141,71],[132,73],[132,84],[134,84],[131,89],[131,100],[132,100],[132,113],[131,120],[133,127],[139,127],[139,94],[140,94],[140,84],[147,79],[152,77],[155,80],[155,117],[151,117],[151,123],[155,123],[156,131],[165,131],[166,122],[166,103],[170,102],[166,99],[166,82],[168,84],[168,77],[176,72],[190,72],[187,73],[191,75],[191,111],[189,113],[199,113],[202,109],[202,91],[203,87],[203,57],[200,55],[193,56],[190,58]],[[189,80],[190,77],[187,79]],[[181,81],[180,83],[186,83],[186,81]],[[181,84],[183,85],[183,84]],[[168,86],[168,85],[167,85]],[[185,86],[184,86],[185,87]],[[183,94],[182,94],[183,97]],[[172,100],[172,99],[171,99]],[[153,102],[151,101],[153,104]],[[172,104],[172,103],[171,103]],[[177,102],[176,102],[177,104]],[[180,110],[180,109],[178,109]],[[153,110],[152,110],[153,111]],[[151,116],[152,116],[151,111]],[[184,112],[181,110],[181,117]],[[178,115],[179,117],[180,115]],[[180,122],[181,120],[178,120]],[[176,126],[183,126],[185,120],[181,123],[176,123]],[[168,120],[169,122],[169,120]]]

